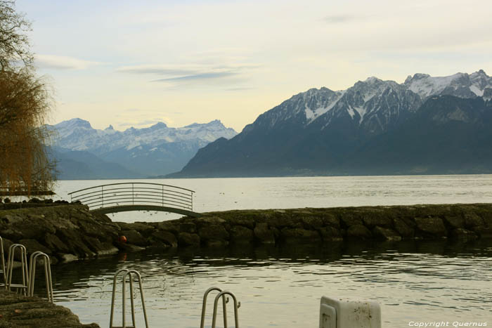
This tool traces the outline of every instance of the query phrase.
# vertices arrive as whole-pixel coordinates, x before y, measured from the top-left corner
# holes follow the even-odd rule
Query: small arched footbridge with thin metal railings
[[[89,206],[91,212],[164,211],[194,216],[193,190],[160,183],[110,183],[70,192],[72,202]]]

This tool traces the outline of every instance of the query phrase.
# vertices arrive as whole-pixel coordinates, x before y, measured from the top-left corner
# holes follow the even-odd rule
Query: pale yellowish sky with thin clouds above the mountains
[[[220,119],[240,132],[309,88],[492,73],[490,0],[17,0],[49,122],[95,129]]]

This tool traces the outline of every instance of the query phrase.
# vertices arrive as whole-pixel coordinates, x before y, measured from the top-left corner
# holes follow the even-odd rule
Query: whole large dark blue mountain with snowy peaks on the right
[[[491,99],[483,70],[311,88],[169,177],[492,173]]]

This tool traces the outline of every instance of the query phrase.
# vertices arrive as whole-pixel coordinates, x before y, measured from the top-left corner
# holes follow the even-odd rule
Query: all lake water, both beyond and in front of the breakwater
[[[115,182],[119,181],[60,181],[57,193],[58,197],[67,199],[68,192]],[[490,175],[149,182],[195,190],[194,210],[199,212],[492,203]],[[174,216],[134,212],[117,214],[112,219],[162,221],[171,217]],[[448,321],[448,327],[453,327],[453,322],[487,322],[492,326],[491,241],[119,254],[56,265],[53,268],[56,303],[71,308],[84,323],[98,322],[101,327],[108,327],[112,274],[123,267],[136,268],[143,275],[150,327],[199,327],[202,295],[212,286],[231,290],[238,297],[241,327],[318,327],[319,300],[323,295],[377,301],[382,307],[384,327],[441,321]],[[138,327],[144,327],[139,308],[137,317]],[[117,322],[121,320],[120,315],[116,318]],[[232,314],[229,322],[231,326]]]

